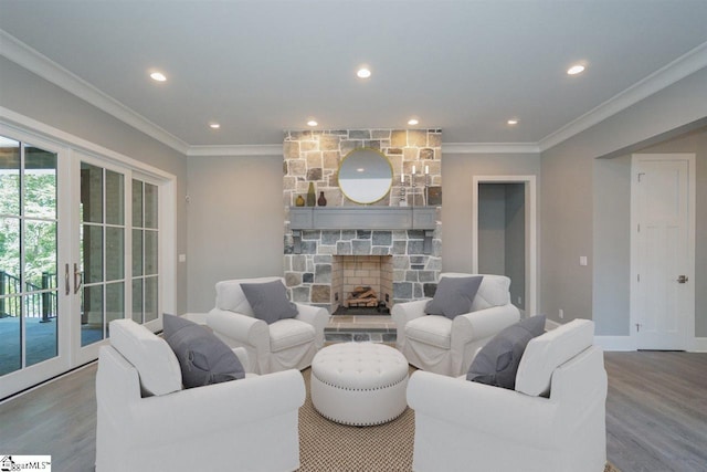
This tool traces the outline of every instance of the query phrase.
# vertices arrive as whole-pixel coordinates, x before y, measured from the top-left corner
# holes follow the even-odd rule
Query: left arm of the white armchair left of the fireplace
[[[270,345],[267,323],[252,316],[213,308],[207,314],[207,325],[230,347],[246,345],[260,350]]]

